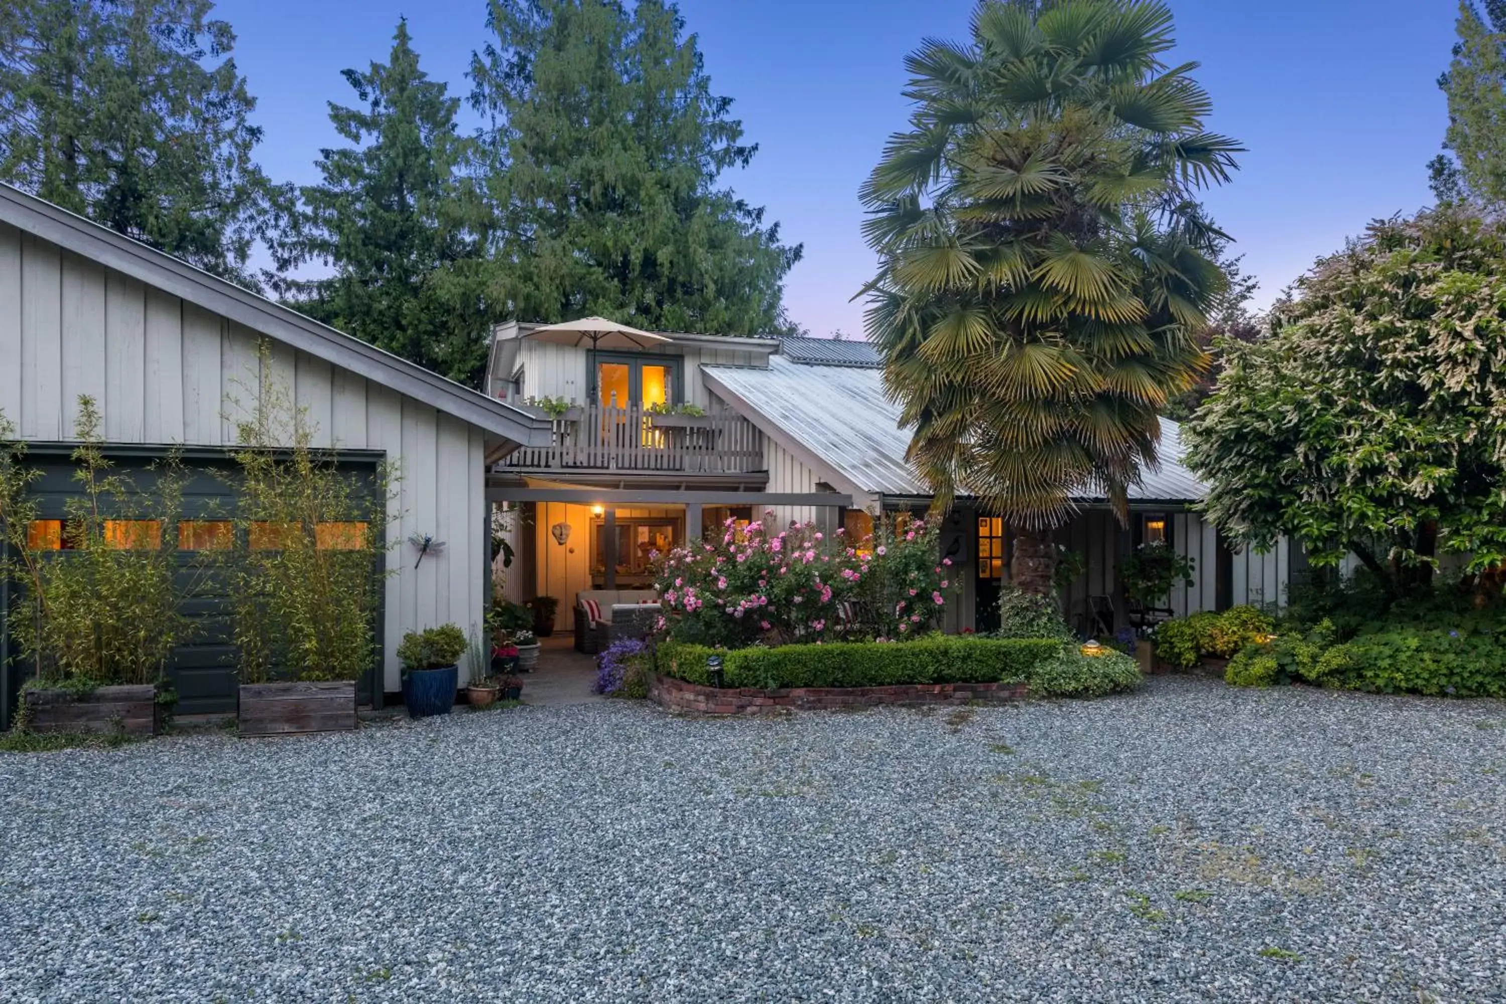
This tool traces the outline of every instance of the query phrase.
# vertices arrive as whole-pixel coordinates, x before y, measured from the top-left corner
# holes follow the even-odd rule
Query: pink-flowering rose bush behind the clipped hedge
[[[736,649],[922,637],[946,611],[944,570],[923,519],[875,521],[864,540],[813,522],[771,533],[729,519],[721,534],[660,555],[655,587],[673,638]]]

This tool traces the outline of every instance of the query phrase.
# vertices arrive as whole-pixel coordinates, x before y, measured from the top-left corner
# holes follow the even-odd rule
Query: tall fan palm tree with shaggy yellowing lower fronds
[[[1158,0],[985,0],[971,35],[907,59],[911,128],[861,190],[867,330],[935,504],[1005,516],[1045,593],[1074,495],[1126,521],[1160,409],[1208,366],[1227,236],[1194,194],[1242,148],[1203,129],[1197,65],[1161,60]]]

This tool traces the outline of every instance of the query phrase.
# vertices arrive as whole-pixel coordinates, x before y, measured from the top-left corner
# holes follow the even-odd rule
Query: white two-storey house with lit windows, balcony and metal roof
[[[929,506],[929,491],[905,461],[910,435],[884,396],[881,360],[866,342],[660,333],[652,343],[605,352],[544,342],[536,331],[497,328],[488,393],[550,399],[559,412],[553,438],[501,459],[488,498],[515,507],[508,596],[559,598],[565,628],[574,625],[578,592],[648,586],[649,552],[682,543],[687,530],[699,536],[727,516],[753,519],[773,509],[776,525],[810,519],[861,533],[872,515]],[[1282,602],[1292,549],[1229,546],[1194,510],[1205,488],[1181,456],[1176,423],[1163,421],[1161,465],[1131,492],[1128,527],[1107,500],[1077,500],[1078,515],[1059,542],[1086,558],[1063,590],[1063,608],[1081,631],[1099,631],[1095,613],[1108,608],[1125,622],[1114,567],[1145,540],[1167,540],[1193,558],[1193,586],[1178,586],[1170,598],[1178,616]],[[997,626],[1009,528],[961,498],[943,546],[962,566],[947,628]]]

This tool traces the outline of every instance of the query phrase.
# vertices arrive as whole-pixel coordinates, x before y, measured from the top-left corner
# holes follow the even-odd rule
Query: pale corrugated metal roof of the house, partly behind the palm
[[[812,339],[801,339],[809,342]],[[843,345],[843,343],[837,343]],[[846,343],[855,345],[855,343]],[[807,364],[770,357],[768,369],[700,367],[708,384],[776,440],[794,440],[863,492],[926,497],[931,489],[905,461],[910,432],[899,426],[899,405],[889,400],[883,369],[855,364]],[[1208,489],[1182,467],[1179,426],[1161,418],[1161,464],[1130,489],[1131,501],[1193,501]],[[1078,501],[1099,501],[1081,495]]]

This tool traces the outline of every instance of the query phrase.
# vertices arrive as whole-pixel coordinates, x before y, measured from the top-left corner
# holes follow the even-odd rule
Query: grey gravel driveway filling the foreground
[[[521,707],[0,754],[0,1001],[1506,998],[1506,704]]]

